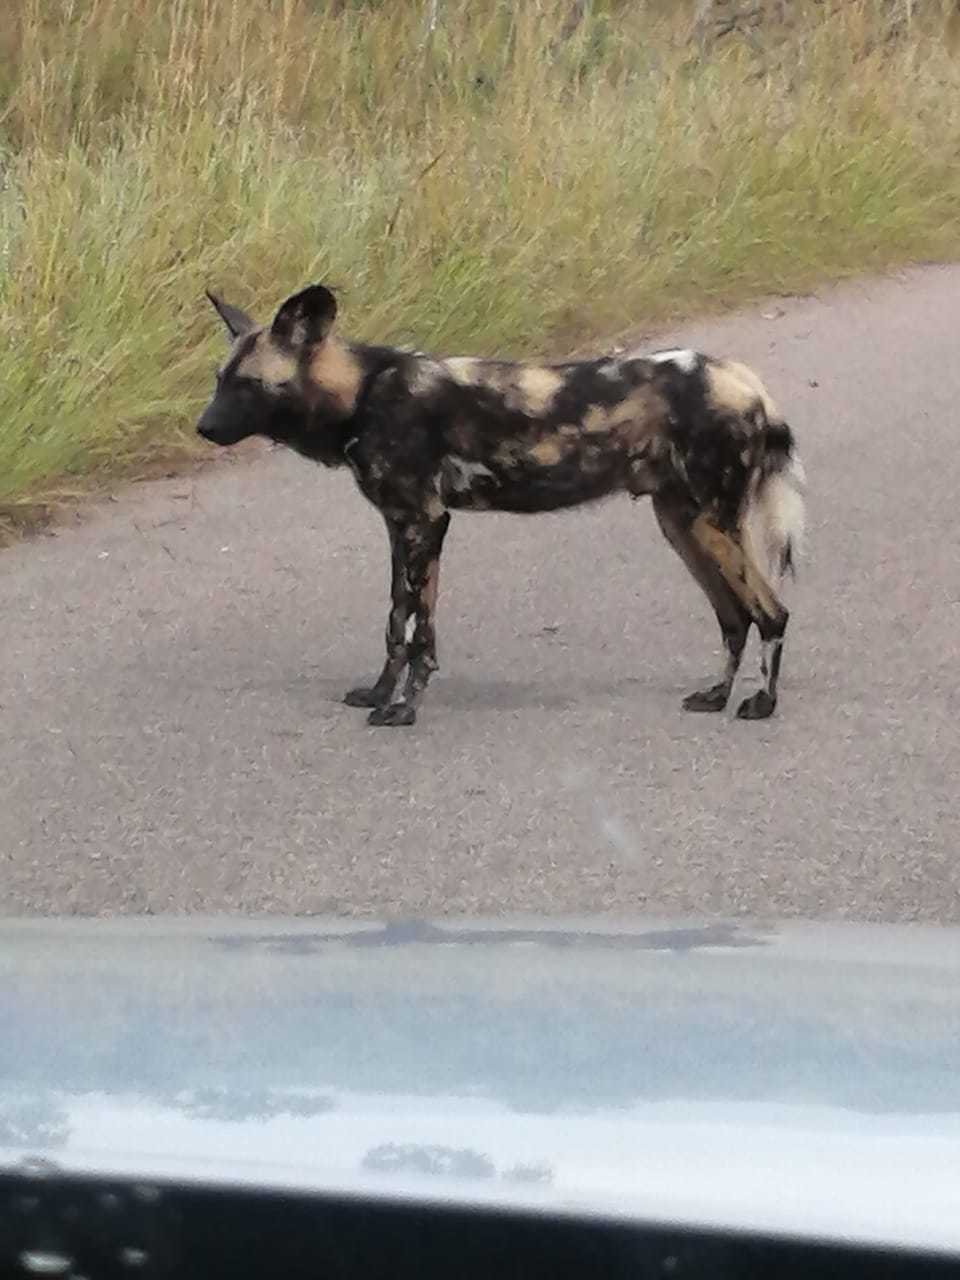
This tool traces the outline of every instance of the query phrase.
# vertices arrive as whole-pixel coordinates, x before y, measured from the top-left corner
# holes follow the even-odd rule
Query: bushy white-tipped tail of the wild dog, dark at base
[[[767,421],[764,452],[748,499],[745,526],[754,554],[773,581],[796,576],[803,552],[806,475],[794,433]]]

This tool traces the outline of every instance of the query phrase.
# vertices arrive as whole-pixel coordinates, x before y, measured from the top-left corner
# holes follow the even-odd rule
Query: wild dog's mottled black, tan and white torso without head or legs
[[[381,390],[381,430],[429,436],[452,509],[534,513],[682,483],[735,527],[778,417],[751,370],[691,351],[557,365],[413,356]]]

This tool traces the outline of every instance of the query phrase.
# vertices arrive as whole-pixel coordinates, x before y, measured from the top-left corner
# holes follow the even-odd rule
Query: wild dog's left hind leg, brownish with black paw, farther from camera
[[[653,509],[663,536],[681,557],[713,605],[726,653],[721,678],[707,689],[689,694],[684,699],[684,708],[689,712],[722,712],[730,701],[733,681],[740,669],[751,616],[728,586],[714,558],[694,538],[691,530],[698,515],[696,507],[689,499],[667,492],[654,494]]]

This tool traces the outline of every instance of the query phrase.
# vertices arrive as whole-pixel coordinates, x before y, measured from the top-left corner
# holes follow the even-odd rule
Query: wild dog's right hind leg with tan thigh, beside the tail
[[[760,572],[740,531],[723,530],[701,515],[694,521],[692,534],[716,561],[724,581],[760,632],[763,687],[740,704],[737,716],[740,719],[765,719],[777,705],[783,636],[790,613]]]

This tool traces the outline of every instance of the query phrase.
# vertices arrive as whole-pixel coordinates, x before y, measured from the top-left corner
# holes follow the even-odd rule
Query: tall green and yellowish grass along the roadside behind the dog
[[[677,5],[8,0],[0,521],[195,452],[221,335],[342,285],[344,329],[561,353],[960,248],[945,9],[801,0],[704,56]],[[337,12],[335,12],[337,10]]]

